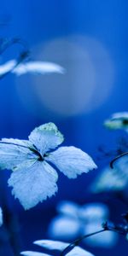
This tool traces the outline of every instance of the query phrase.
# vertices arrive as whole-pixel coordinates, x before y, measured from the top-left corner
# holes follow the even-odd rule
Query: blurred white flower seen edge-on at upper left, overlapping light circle
[[[0,76],[5,73],[15,73],[16,75],[22,75],[25,73],[65,73],[65,69],[60,65],[46,61],[26,61],[16,65],[16,60],[7,61],[3,65],[0,65]]]

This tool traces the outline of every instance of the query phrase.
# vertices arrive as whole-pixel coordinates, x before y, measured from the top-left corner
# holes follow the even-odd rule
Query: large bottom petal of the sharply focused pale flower
[[[38,202],[55,195],[57,173],[45,161],[37,161],[32,166],[20,168],[11,174],[9,186],[25,209],[35,207]]]

